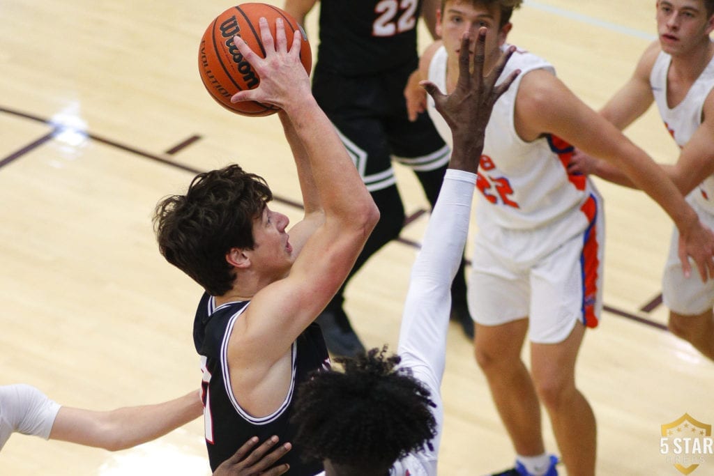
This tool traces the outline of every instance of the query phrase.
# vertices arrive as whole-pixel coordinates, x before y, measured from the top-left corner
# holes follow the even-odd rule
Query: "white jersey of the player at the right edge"
[[[667,72],[672,56],[660,51],[650,73],[650,86],[660,116],[670,135],[680,148],[692,137],[702,123],[704,99],[714,88],[714,59],[709,61],[697,80],[692,84],[687,96],[674,108],[667,104]],[[692,193],[693,198],[709,213],[714,213],[714,176],[708,176]]]

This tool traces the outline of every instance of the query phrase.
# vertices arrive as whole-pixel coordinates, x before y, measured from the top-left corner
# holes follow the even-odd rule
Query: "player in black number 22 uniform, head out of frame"
[[[286,0],[283,8],[299,24],[318,0]],[[426,113],[409,121],[403,90],[418,66],[420,14],[435,35],[435,0],[320,0],[317,61],[313,94],[357,166],[381,219],[343,288],[318,318],[328,349],[335,355],[364,350],[343,310],[351,276],[390,240],[404,222],[392,158],[413,169],[431,206],[436,203],[448,163],[448,146]],[[452,317],[473,335],[466,307],[464,263],[453,283]]]

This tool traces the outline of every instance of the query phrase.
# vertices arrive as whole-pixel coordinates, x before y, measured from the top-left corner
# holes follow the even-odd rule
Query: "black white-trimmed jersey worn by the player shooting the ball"
[[[193,343],[201,355],[203,367],[206,447],[211,470],[214,471],[253,436],[258,436],[262,442],[278,435],[281,442],[292,442],[295,429],[289,420],[298,385],[306,380],[311,371],[329,365],[322,332],[313,323],[293,343],[293,381],[281,407],[266,417],[248,415],[233,396],[228,380],[226,348],[236,319],[241,318],[249,303],[226,303],[216,308],[213,298],[204,294],[193,322]],[[280,462],[290,465],[290,475],[312,476],[323,470],[321,461],[303,462],[294,448]]]

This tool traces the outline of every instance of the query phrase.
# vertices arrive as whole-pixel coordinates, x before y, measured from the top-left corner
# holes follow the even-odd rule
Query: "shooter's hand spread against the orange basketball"
[[[233,94],[231,102],[258,101],[285,109],[301,98],[311,98],[310,79],[300,60],[300,45],[303,41],[300,30],[294,32],[293,43],[288,50],[283,19],[278,18],[275,21],[275,39],[267,19],[261,17],[258,25],[261,29],[263,49],[266,51],[265,58],[258,56],[240,36],[233,37],[233,44],[253,66],[260,77],[260,83],[256,88]]]

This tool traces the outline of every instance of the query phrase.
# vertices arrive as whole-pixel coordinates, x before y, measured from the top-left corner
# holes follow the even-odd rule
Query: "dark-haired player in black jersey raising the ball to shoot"
[[[268,208],[272,193],[265,181],[235,165],[199,174],[185,195],[161,201],[154,216],[161,253],[203,286],[216,307],[211,314],[199,309],[194,327],[206,364],[204,420],[213,469],[264,425],[279,425],[293,404],[296,380],[323,365],[315,358],[326,358],[320,340],[307,341],[303,332],[340,288],[379,218],[313,98],[299,59],[301,35],[288,41],[281,19],[275,39],[265,19],[260,29],[266,59],[235,41],[260,86],[233,100],[281,108],[305,217],[288,235],[288,218]],[[274,430],[285,440],[285,426]],[[299,456],[288,453],[295,474],[321,467]]]

